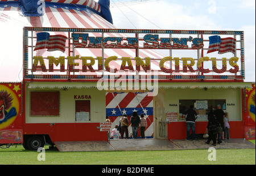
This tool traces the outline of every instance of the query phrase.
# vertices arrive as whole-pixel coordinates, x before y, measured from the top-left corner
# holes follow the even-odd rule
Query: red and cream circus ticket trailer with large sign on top
[[[187,35],[188,38],[172,38],[170,33],[177,36]],[[203,56],[206,43],[211,42],[203,36],[216,36],[215,33],[214,31],[24,27],[23,82],[18,85],[5,84],[5,88],[13,92],[13,99],[18,98],[16,104],[19,104],[19,111],[16,113],[18,114],[16,118],[22,122],[18,131],[19,139],[23,139],[24,148],[36,148],[39,147],[36,144],[43,145],[45,141],[56,144],[58,141],[108,140],[108,130],[113,126],[104,123],[106,109],[111,110],[114,107],[111,110],[112,114],[118,114],[118,110],[129,115],[132,111],[138,111],[137,106],[133,107],[134,109],[128,105],[121,106],[121,101],[125,102],[125,100],[115,99],[117,97],[115,94],[121,92],[134,93],[134,97],[137,97],[135,93],[147,93],[149,98],[145,101],[147,100],[149,108],[141,105],[144,99],[138,102],[142,113],[146,115],[148,130],[153,133],[154,138],[184,139],[185,110],[191,104],[195,105],[199,114],[196,134],[204,134],[208,111],[220,104],[221,108],[229,113],[232,138],[243,138],[245,88],[251,88],[252,85],[242,81],[244,59],[238,57],[217,59]],[[227,31],[220,33],[233,35],[235,38],[243,34]],[[118,39],[102,37],[113,34],[120,37]],[[123,37],[124,34],[134,36]],[[47,44],[43,46],[44,49],[49,50],[45,51],[46,56],[33,55],[34,51],[42,49],[40,40],[46,36],[56,37],[56,41],[65,41],[61,44],[64,48],[58,44],[53,50],[60,50],[61,53],[68,50],[69,54],[72,54],[56,56],[55,51],[47,48],[49,47]],[[174,41],[172,45],[171,40]],[[243,58],[243,38],[228,40],[241,42],[241,48],[235,47],[234,53],[236,55],[237,51],[240,51]],[[139,42],[143,45],[139,46]],[[189,43],[192,46],[188,46]],[[210,45],[207,48],[210,48]],[[83,51],[88,49],[101,49],[102,56],[97,58],[82,56]],[[134,49],[135,55],[133,58],[117,56],[106,58],[103,55],[108,49]],[[170,55],[157,59],[141,58],[136,55],[139,51],[152,49],[168,50]],[[182,50],[184,53],[191,49],[201,51],[197,55],[198,58],[171,56],[176,50]],[[238,62],[240,60],[242,61]],[[217,63],[222,63],[221,68],[217,68]],[[218,75],[214,75],[216,72]],[[114,98],[111,99],[110,96]],[[129,97],[130,95],[125,99]],[[10,96],[6,98],[10,100]],[[117,104],[110,107],[108,106],[110,101]],[[114,122],[118,121],[119,118],[114,119]]]

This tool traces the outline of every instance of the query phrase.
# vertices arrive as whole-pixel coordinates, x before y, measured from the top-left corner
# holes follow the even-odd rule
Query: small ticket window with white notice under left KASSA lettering
[[[76,122],[90,121],[90,100],[76,100]]]

